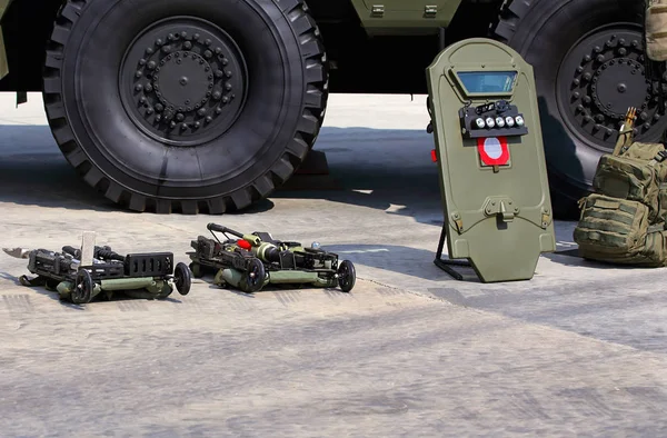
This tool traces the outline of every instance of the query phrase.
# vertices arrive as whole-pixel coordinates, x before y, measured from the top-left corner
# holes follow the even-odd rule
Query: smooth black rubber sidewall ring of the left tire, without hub
[[[236,40],[249,70],[249,92],[243,112],[222,137],[196,149],[166,147],[125,112],[118,68],[145,24],[195,13]],[[68,122],[104,177],[132,192],[179,200],[229,193],[265,175],[297,131],[306,88],[299,43],[270,0],[92,0],[71,29],[62,78]],[[225,179],[216,175],[223,160],[235,168]]]

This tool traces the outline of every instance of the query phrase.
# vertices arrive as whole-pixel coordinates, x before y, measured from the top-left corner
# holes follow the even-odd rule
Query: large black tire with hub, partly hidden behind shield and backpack
[[[643,8],[636,0],[510,0],[491,26],[534,67],[558,217],[578,217],[576,201],[591,191],[628,107],[641,108],[636,139],[657,140],[667,128],[644,78]]]

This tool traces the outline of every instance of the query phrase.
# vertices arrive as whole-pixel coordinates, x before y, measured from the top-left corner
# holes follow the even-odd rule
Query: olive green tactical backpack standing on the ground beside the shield
[[[600,158],[595,193],[580,201],[574,239],[586,259],[664,267],[667,150],[663,143],[628,141],[628,132],[621,130],[614,153]]]

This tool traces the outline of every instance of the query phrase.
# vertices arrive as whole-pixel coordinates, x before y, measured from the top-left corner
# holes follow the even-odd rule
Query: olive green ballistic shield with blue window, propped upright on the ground
[[[531,279],[556,250],[532,67],[474,38],[440,52],[427,81],[445,212],[436,265],[458,279],[451,265],[482,282]]]

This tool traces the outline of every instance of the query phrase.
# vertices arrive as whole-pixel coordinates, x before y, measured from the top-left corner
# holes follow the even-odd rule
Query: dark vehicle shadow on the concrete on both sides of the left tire
[[[316,149],[327,153],[330,178],[339,189],[279,190],[241,213],[270,210],[270,199],[327,199],[441,223],[438,169],[430,161],[432,137],[426,131],[322,128]],[[48,126],[0,128],[0,201],[122,209],[82,181],[60,153]]]

